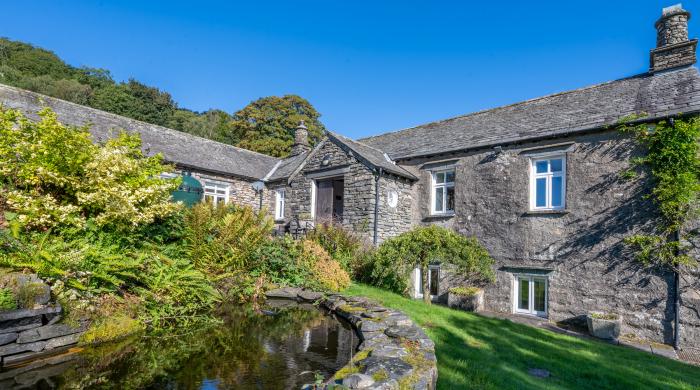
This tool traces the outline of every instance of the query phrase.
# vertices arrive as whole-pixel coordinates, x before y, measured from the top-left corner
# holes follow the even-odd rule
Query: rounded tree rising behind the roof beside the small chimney
[[[294,129],[304,121],[313,145],[325,127],[321,115],[306,99],[297,95],[260,98],[234,114],[233,134],[238,146],[275,157],[286,157],[294,144]]]

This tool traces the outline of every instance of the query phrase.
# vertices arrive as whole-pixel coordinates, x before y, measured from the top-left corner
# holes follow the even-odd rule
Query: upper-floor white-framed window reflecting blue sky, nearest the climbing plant
[[[530,161],[530,209],[563,210],[566,207],[566,157],[559,154]]]

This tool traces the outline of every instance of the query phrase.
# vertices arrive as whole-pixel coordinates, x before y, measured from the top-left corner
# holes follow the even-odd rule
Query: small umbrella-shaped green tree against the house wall
[[[465,237],[436,225],[422,226],[391,238],[379,247],[374,256],[374,274],[388,278],[396,287],[405,286],[410,271],[420,267],[423,300],[430,304],[428,268],[442,262],[455,266],[455,272],[473,283],[493,281],[494,260],[476,238]]]

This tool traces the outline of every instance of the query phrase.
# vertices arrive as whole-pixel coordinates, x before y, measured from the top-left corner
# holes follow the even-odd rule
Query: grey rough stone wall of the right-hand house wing
[[[566,210],[530,212],[527,154],[557,149],[569,150]],[[648,183],[621,179],[637,153],[632,140],[608,131],[505,148],[502,153],[458,155],[455,216],[430,217],[429,181],[423,172],[414,186],[413,219],[476,236],[485,245],[497,260],[497,281],[485,292],[487,310],[511,312],[514,275],[534,272],[548,277],[551,320],[576,321],[588,311],[609,311],[623,316],[623,335],[669,343],[673,275],[644,269],[623,243],[634,232],[649,231],[656,218],[654,205],[644,198]],[[413,160],[407,168],[434,162]],[[442,292],[460,284],[449,272],[442,272],[441,279]],[[684,313],[698,318],[697,311]],[[693,332],[686,330],[699,344]]]

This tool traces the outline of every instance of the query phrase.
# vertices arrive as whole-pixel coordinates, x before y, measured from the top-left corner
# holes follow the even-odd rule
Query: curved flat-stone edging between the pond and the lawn
[[[352,360],[323,389],[432,390],[437,381],[435,344],[408,316],[363,297],[324,295],[300,288],[270,290],[268,298],[317,304],[345,319],[360,338]]]

